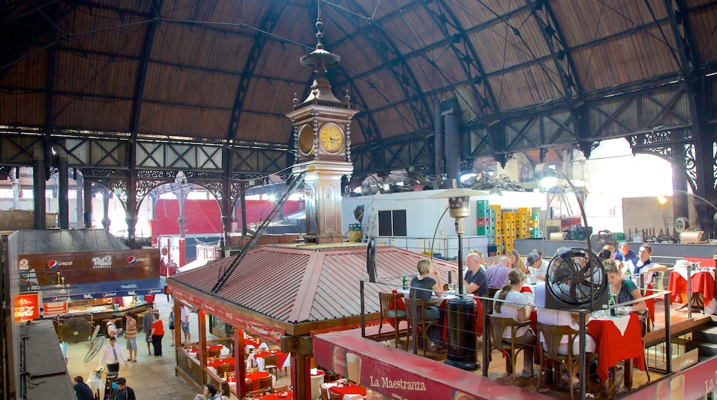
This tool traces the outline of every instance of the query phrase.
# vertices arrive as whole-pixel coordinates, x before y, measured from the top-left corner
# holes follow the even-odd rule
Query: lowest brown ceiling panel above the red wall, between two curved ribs
[[[229,110],[142,103],[139,132],[189,138],[227,137]]]

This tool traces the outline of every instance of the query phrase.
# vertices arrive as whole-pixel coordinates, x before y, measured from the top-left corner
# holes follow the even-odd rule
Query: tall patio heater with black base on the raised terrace
[[[445,363],[466,370],[480,368],[478,362],[478,328],[475,314],[477,307],[473,297],[465,295],[463,288],[463,219],[470,216],[470,196],[485,196],[485,192],[472,189],[447,189],[440,194],[428,196],[429,199],[448,199],[448,211],[455,218],[455,233],[458,236],[458,293],[455,298],[446,301],[446,322],[448,353]],[[466,334],[467,333],[467,334]]]

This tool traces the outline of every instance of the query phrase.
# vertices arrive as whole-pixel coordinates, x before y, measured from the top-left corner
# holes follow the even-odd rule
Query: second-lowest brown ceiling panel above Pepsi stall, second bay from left
[[[53,90],[76,95],[133,97],[139,62],[131,59],[56,52]]]

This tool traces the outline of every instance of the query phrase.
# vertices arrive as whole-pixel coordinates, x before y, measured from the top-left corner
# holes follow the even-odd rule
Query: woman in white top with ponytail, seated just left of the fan
[[[495,293],[495,300],[505,300],[508,303],[496,301],[493,304],[493,316],[501,318],[512,318],[516,322],[526,322],[530,319],[531,307],[526,302],[526,297],[521,293],[526,275],[521,270],[513,269],[508,272],[508,282]],[[508,328],[503,332],[503,338],[511,339],[511,330]],[[529,326],[521,326],[516,330],[516,343],[534,344],[536,334]],[[523,350],[523,378],[533,378],[538,371],[533,370],[533,346]]]

